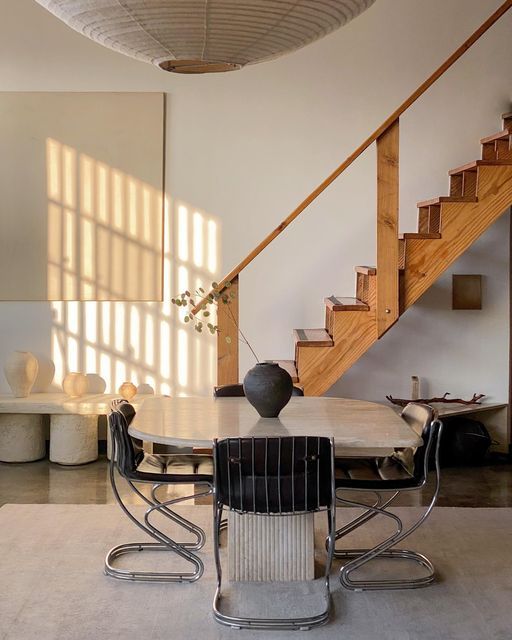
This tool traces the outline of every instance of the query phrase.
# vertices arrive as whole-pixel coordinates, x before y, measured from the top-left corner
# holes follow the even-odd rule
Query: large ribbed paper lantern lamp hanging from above
[[[239,69],[299,49],[375,0],[37,0],[76,31],[168,71]]]

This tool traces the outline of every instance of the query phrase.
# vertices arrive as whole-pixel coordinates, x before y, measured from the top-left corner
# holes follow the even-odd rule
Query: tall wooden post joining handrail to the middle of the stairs
[[[377,333],[398,320],[398,141],[396,119],[377,138]]]

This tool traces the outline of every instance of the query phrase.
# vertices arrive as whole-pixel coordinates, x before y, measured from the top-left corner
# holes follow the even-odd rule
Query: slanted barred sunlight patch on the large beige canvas
[[[46,141],[49,300],[161,300],[162,193]]]

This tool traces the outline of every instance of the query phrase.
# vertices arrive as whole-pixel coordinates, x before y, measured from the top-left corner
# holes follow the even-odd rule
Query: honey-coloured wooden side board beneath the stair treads
[[[478,167],[477,185],[476,202],[441,204],[439,239],[406,241],[401,313],[512,206],[512,166]],[[378,281],[378,272],[376,278]],[[377,341],[375,300],[367,312],[334,314],[332,337],[332,347],[297,348],[298,384],[305,395],[324,394]]]

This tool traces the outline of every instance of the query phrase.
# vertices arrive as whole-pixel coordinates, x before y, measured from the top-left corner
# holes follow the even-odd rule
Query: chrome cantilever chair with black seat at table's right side
[[[428,405],[408,404],[402,411],[402,418],[418,435],[422,436],[423,446],[417,450],[398,450],[394,456],[371,460],[336,461],[336,500],[338,505],[364,508],[365,511],[336,531],[336,540],[348,535],[377,515],[383,515],[395,522],[396,531],[372,549],[335,550],[336,558],[347,559],[340,570],[340,582],[347,589],[362,591],[370,589],[412,589],[425,587],[435,579],[432,562],[424,555],[407,549],[397,549],[396,545],[421,526],[430,515],[437,500],[440,486],[439,443],[442,423],[435,419],[434,410]],[[432,499],[413,525],[404,529],[400,518],[388,507],[402,491],[417,491],[425,486],[428,477],[429,459],[434,452],[435,487]],[[342,497],[344,491],[364,491],[377,497],[373,505],[368,505]],[[391,494],[384,500],[382,495]],[[351,574],[375,558],[402,558],[412,560],[426,569],[426,574],[418,578],[404,579],[355,579]]]

